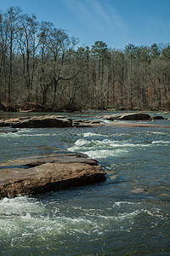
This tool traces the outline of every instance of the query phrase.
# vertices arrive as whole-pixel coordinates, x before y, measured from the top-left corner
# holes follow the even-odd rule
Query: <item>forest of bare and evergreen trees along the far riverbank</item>
[[[170,110],[170,44],[77,45],[36,15],[2,12],[0,109]]]

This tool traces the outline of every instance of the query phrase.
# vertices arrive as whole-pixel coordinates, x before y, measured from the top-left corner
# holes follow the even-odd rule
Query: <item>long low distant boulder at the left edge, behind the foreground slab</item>
[[[71,127],[71,119],[62,116],[44,115],[37,117],[3,119],[0,126],[11,126],[13,128],[48,128],[48,127]]]

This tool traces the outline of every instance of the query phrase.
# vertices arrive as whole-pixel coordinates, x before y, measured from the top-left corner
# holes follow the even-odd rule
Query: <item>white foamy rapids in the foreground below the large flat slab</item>
[[[89,234],[103,232],[102,230],[120,229],[120,223],[124,230],[131,227],[133,218],[141,214],[162,218],[159,209],[150,212],[147,209],[133,210],[135,204],[128,201],[117,201],[113,207],[122,211],[121,205],[129,205],[128,212],[105,212],[100,209],[81,208],[82,217],[66,216],[66,212],[60,212],[58,204],[53,207],[53,212],[48,212],[47,205],[42,205],[39,201],[28,197],[14,199],[3,199],[0,201],[0,237],[8,236],[13,238],[17,234],[23,237],[31,236],[55,236],[69,234]],[[73,206],[74,207],[74,206]],[[79,209],[80,210],[80,209]],[[44,212],[47,214],[44,215]],[[116,224],[116,226],[115,226]],[[126,228],[125,228],[126,227]]]

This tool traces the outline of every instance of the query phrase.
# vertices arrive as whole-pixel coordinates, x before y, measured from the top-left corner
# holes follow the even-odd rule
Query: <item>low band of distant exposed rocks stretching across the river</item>
[[[105,115],[102,119],[108,120],[155,120],[155,119],[165,119],[161,116],[150,117],[148,113],[118,113],[113,115]],[[127,126],[127,127],[169,127],[168,125],[151,125],[144,123],[125,123],[125,122],[111,122],[102,123],[98,120],[88,120],[88,119],[68,119],[64,116],[57,115],[44,115],[36,117],[20,117],[14,119],[1,119],[0,127],[8,127],[7,130],[1,128],[0,132],[10,132],[17,130],[8,130],[16,128],[63,128],[63,127],[98,127],[98,126]]]

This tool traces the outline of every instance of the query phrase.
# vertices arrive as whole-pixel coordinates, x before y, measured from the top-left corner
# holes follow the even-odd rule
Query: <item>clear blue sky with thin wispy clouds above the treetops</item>
[[[123,49],[170,43],[170,0],[0,0],[1,11],[12,6],[53,22],[80,45],[103,41]]]

